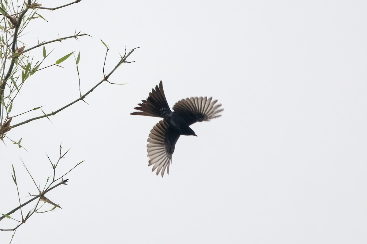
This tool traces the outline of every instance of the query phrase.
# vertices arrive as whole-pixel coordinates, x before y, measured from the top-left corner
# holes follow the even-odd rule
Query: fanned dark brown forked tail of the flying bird
[[[159,87],[156,86],[155,90],[152,89],[152,92],[149,93],[149,97],[146,100],[142,100],[142,103],[138,105],[139,107],[134,109],[140,110],[141,112],[134,112],[131,113],[131,115],[145,115],[163,118],[165,115],[171,113],[166,96],[164,95],[162,81],[159,83]]]

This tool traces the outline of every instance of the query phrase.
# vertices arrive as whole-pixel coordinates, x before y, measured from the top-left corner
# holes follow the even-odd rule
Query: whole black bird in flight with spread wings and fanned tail
[[[212,100],[212,97],[190,97],[178,101],[171,111],[164,95],[163,83],[160,81],[159,87],[152,89],[149,97],[134,108],[139,112],[131,113],[163,118],[150,131],[147,140],[148,166],[153,165],[152,172],[157,169],[157,175],[161,172],[163,177],[167,169],[169,174],[178,138],[181,135],[197,136],[189,125],[220,117],[219,112],[224,110],[221,106],[222,104],[217,104],[217,100]]]

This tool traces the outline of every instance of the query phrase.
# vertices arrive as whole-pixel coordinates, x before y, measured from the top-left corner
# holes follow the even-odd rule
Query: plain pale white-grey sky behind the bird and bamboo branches
[[[86,160],[46,195],[63,209],[35,214],[12,243],[366,243],[366,11],[366,1],[187,0],[40,10],[50,23],[31,22],[29,46],[75,29],[93,36],[46,46],[56,48],[47,64],[81,51],[82,92],[103,78],[100,39],[106,72],[125,45],[140,49],[109,79],[130,85],[102,84],[90,105],[11,130],[28,152],[0,144],[1,213],[17,206],[11,163],[22,202],[37,193],[19,156],[41,185],[52,173],[45,152],[56,159],[60,142],[72,149],[59,174]],[[75,100],[75,61],[62,66],[26,80],[12,115]],[[163,178],[146,157],[159,119],[130,115],[160,80],[170,106],[213,96],[225,109],[192,125],[197,138],[181,136]]]

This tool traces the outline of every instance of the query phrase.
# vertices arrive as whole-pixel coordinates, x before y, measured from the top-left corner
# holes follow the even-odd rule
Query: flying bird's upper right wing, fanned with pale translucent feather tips
[[[215,105],[216,103],[217,100],[212,101],[212,97],[191,97],[178,101],[173,110],[183,115],[183,119],[190,125],[220,117],[218,113],[224,109],[220,109],[222,104]]]

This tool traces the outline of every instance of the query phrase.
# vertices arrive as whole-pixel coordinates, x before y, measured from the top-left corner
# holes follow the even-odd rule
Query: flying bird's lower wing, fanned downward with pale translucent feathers
[[[180,134],[164,120],[159,121],[150,131],[148,145],[146,145],[149,157],[149,166],[153,165],[152,172],[157,169],[157,175],[167,168],[167,174],[172,163],[172,154]]]

